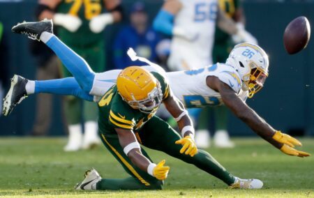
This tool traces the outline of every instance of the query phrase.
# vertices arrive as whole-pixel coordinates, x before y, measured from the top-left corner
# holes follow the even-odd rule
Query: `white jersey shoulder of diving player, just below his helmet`
[[[236,93],[239,93],[242,81],[237,70],[233,66],[225,63],[217,63],[217,66],[218,70],[216,70],[216,77],[218,77],[221,82],[229,85]]]

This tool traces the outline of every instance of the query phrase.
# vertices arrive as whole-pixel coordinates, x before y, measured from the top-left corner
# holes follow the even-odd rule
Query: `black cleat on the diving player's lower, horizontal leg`
[[[11,79],[11,86],[6,94],[6,98],[3,99],[2,114],[8,116],[12,112],[13,108],[20,104],[24,98],[27,98],[27,91],[25,86],[29,80],[19,75],[14,75]]]

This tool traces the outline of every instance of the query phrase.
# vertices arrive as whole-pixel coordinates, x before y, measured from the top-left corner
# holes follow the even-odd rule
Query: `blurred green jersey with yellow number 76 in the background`
[[[75,47],[92,47],[95,43],[103,42],[103,33],[94,33],[89,29],[92,17],[103,13],[103,0],[63,0],[57,6],[56,13],[64,13],[80,17],[82,25],[75,32],[59,26],[58,36],[66,45]]]

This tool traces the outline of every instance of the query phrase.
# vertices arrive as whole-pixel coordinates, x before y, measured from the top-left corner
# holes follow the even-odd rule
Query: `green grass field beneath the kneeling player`
[[[64,153],[66,139],[0,139],[0,197],[314,197],[314,158],[287,156],[262,139],[234,139],[232,149],[207,151],[241,178],[260,178],[262,190],[230,190],[205,172],[146,148],[155,162],[171,167],[164,190],[80,191],[84,171],[94,167],[103,178],[124,178],[118,162],[104,146]],[[314,154],[314,139],[301,139],[302,150]]]

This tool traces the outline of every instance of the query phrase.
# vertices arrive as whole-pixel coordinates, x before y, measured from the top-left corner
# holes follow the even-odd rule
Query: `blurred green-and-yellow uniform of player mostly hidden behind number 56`
[[[239,8],[239,0],[218,0],[220,9],[224,10],[228,17],[234,17],[235,11]],[[220,30],[218,26],[216,26],[215,33],[215,45],[219,45],[220,43],[225,43],[227,39],[230,38],[230,35]]]

